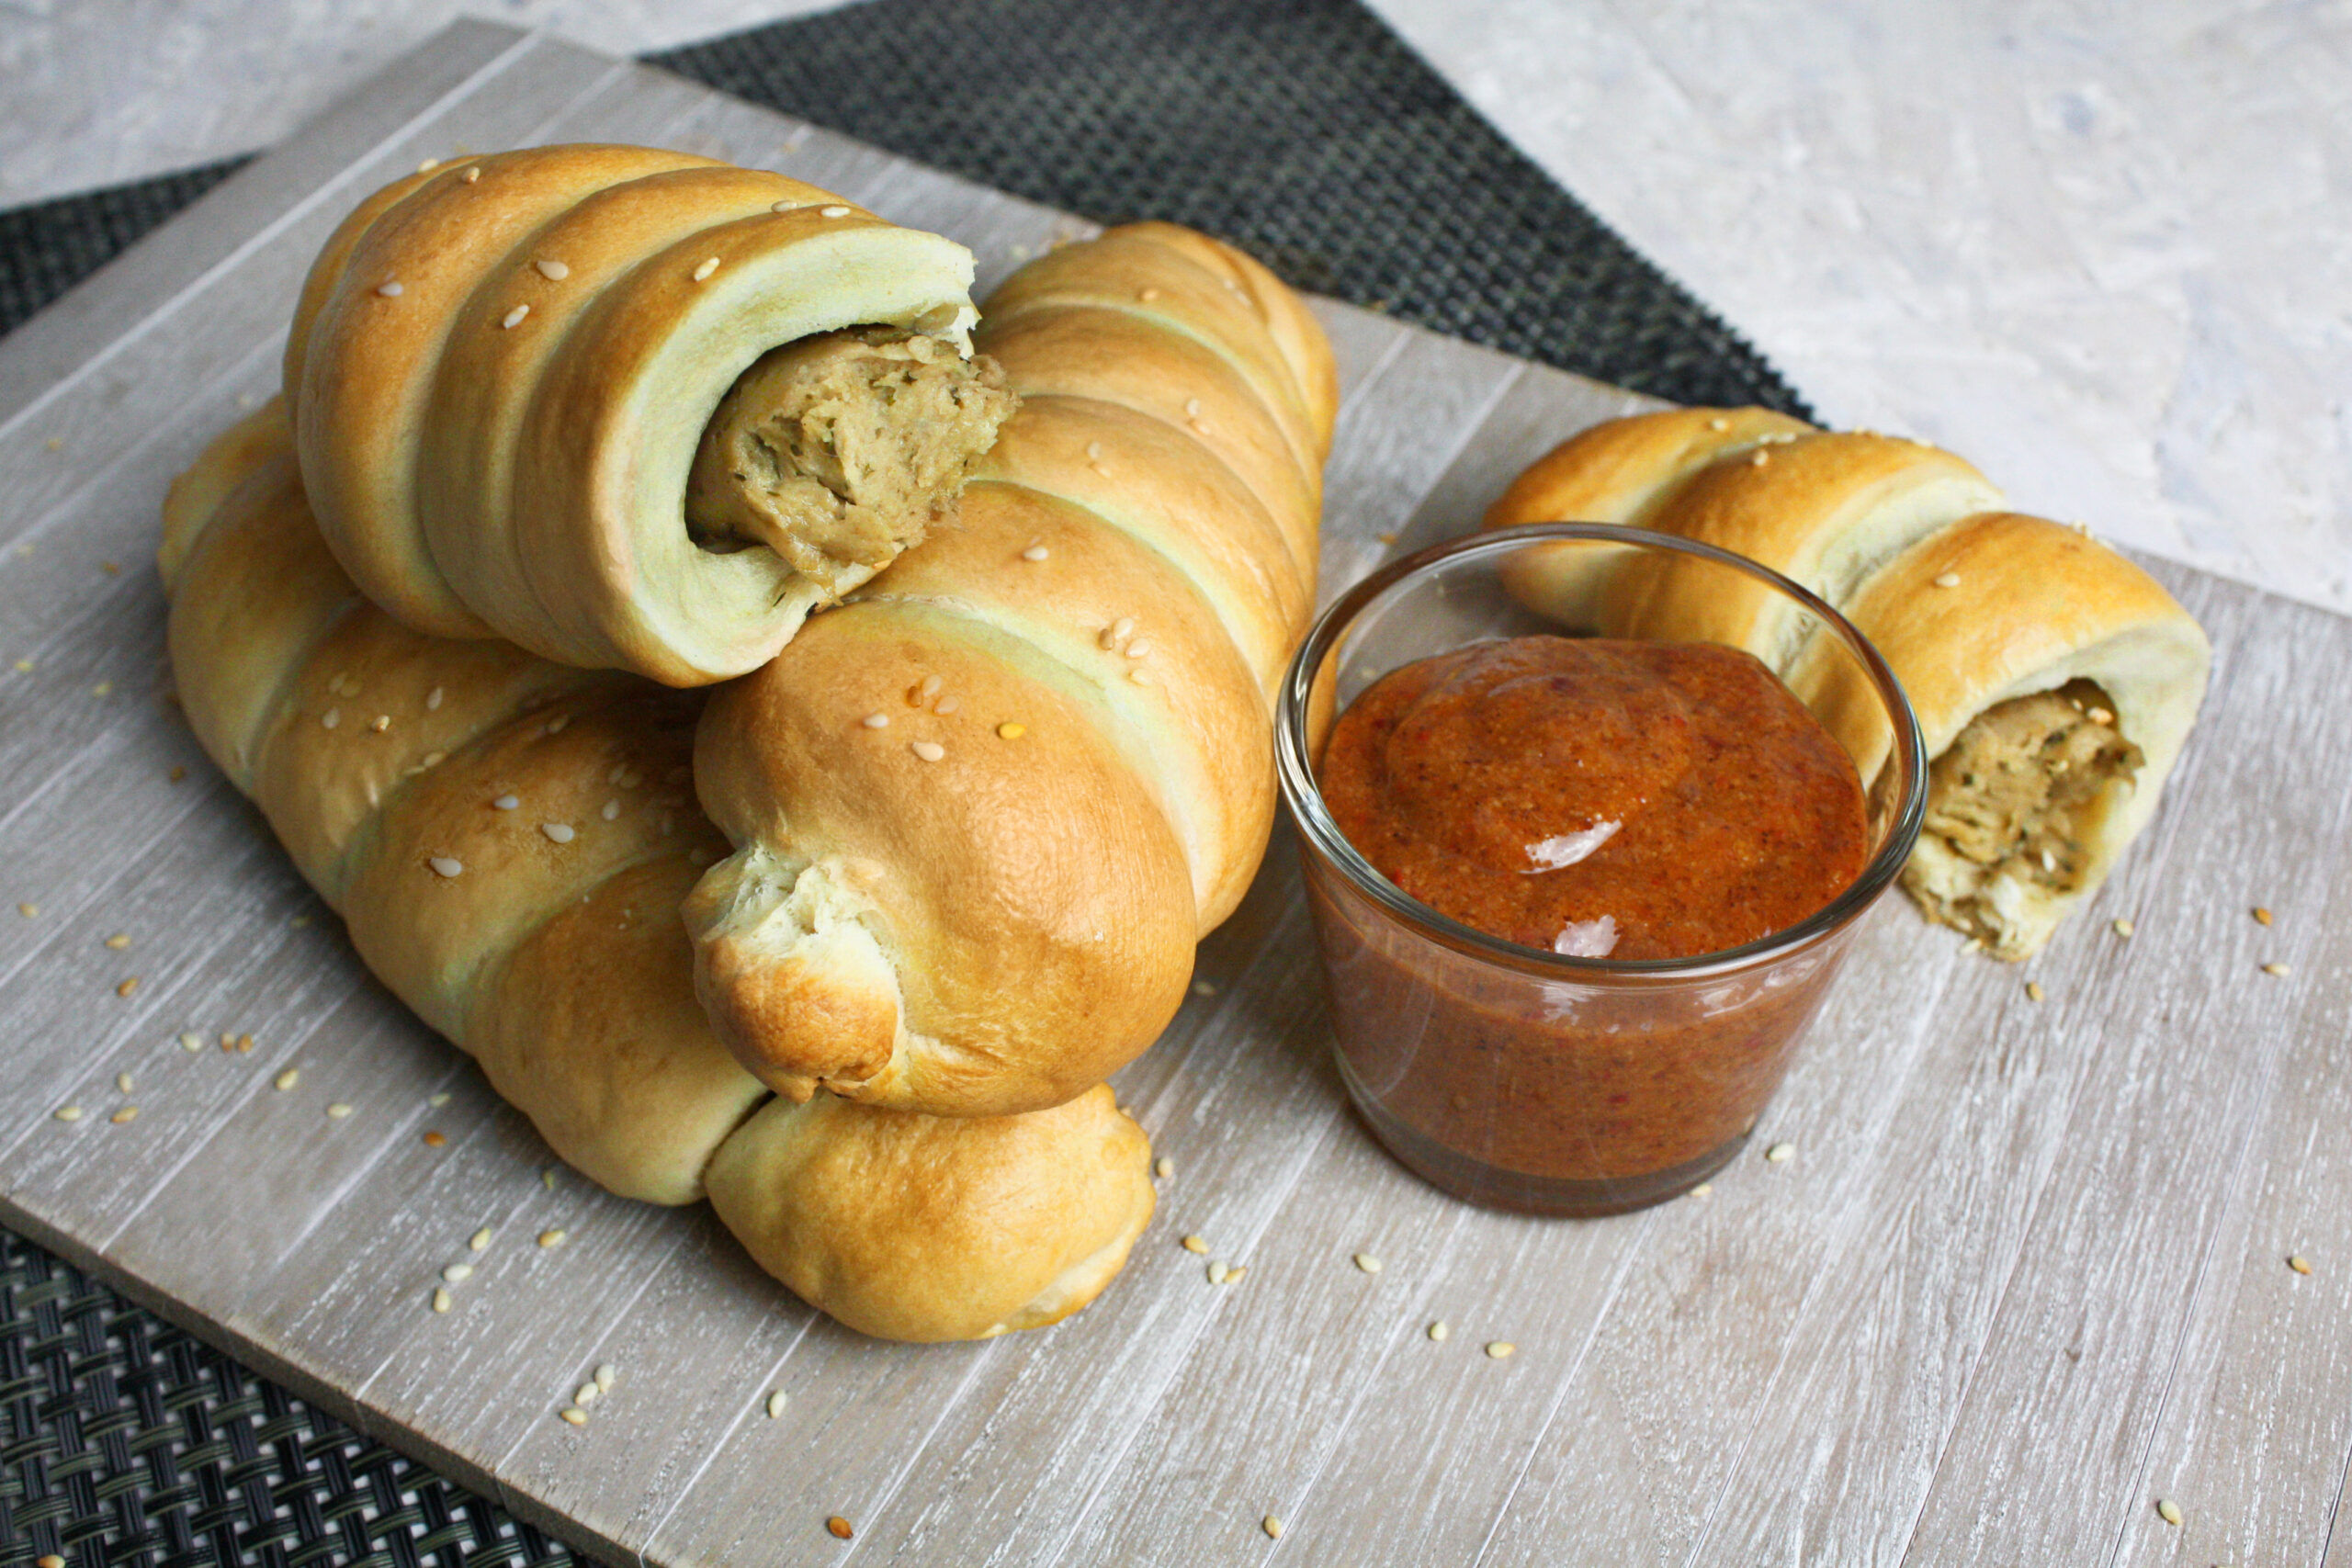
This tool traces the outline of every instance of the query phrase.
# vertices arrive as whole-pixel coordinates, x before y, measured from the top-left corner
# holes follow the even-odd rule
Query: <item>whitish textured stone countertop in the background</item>
[[[2352,611],[2352,5],[1371,0],[1835,425]],[[0,0],[0,205],[266,146],[461,12],[644,52],[807,0]]]

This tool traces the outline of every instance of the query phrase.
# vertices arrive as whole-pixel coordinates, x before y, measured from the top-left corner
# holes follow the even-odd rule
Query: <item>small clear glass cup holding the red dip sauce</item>
[[[1555,616],[1512,597],[1529,574],[1550,583]],[[1870,860],[1860,877],[1745,947],[1651,961],[1522,947],[1399,891],[1324,809],[1317,764],[1331,724],[1399,665],[1524,635],[1764,644],[1750,651],[1766,656],[1863,778]],[[1853,625],[1750,559],[1606,524],[1472,534],[1352,588],[1291,661],[1275,748],[1348,1095],[1418,1175],[1522,1213],[1642,1208],[1689,1192],[1738,1154],[1856,922],[1910,858],[1926,806],[1910,701]]]

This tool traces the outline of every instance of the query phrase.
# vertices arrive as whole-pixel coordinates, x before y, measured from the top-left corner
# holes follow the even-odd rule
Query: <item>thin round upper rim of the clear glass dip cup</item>
[[[1315,783],[1315,766],[1308,757],[1308,715],[1312,710],[1315,672],[1338,646],[1338,639],[1350,625],[1355,625],[1364,609],[1406,578],[1428,574],[1449,562],[1501,557],[1529,545],[1559,541],[1672,550],[1729,567],[1733,571],[1745,571],[1792,599],[1806,614],[1816,616],[1820,625],[1837,635],[1856,661],[1860,661],[1860,665],[1870,672],[1870,682],[1877,689],[1879,701],[1886,705],[1886,719],[1893,729],[1893,748],[1889,750],[1882,769],[1896,764],[1903,766],[1903,799],[1896,806],[1896,818],[1886,832],[1886,842],[1870,858],[1863,872],[1837,893],[1837,898],[1792,926],[1783,926],[1780,931],[1771,931],[1738,947],[1724,947],[1722,952],[1700,952],[1686,959],[1583,959],[1486,936],[1451,914],[1442,914],[1374,870],[1371,860],[1367,860],[1362,851],[1348,842],[1348,835],[1338,830],[1338,823],[1331,820],[1329,806],[1324,806],[1322,788]],[[1338,722],[1338,712],[1341,708],[1334,693],[1334,724]],[[1444,947],[1501,964],[1505,969],[1583,983],[1708,978],[1776,959],[1813,943],[1816,938],[1830,936],[1877,903],[1877,898],[1893,884],[1893,879],[1903,872],[1905,860],[1910,860],[1910,851],[1919,839],[1919,825],[1926,818],[1926,743],[1919,736],[1919,717],[1912,712],[1903,682],[1896,679],[1896,672],[1886,668],[1877,646],[1872,646],[1851,621],[1830,609],[1830,604],[1818,595],[1792,583],[1771,567],[1748,559],[1745,555],[1733,555],[1731,550],[1722,550],[1696,538],[1677,538],[1672,534],[1653,534],[1651,529],[1630,529],[1611,522],[1536,522],[1517,529],[1465,534],[1390,562],[1343,592],[1315,618],[1315,625],[1308,628],[1305,642],[1298,644],[1289,670],[1282,675],[1282,689],[1275,696],[1275,773],[1282,783],[1282,799],[1291,809],[1291,820],[1298,823],[1298,830],[1312,851],[1336,865],[1348,882],[1355,884],[1357,893],[1388,910],[1388,914],[1404,922],[1404,926],[1442,943]],[[1872,780],[1865,778],[1865,799],[1870,788]]]

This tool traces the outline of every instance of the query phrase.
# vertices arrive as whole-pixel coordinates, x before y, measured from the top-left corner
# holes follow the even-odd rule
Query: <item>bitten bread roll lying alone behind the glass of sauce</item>
[[[2074,529],[1999,510],[1959,458],[1764,409],[1668,409],[1534,463],[1486,527],[1611,522],[1722,545],[1837,607],[1893,668],[1926,743],[1929,811],[1903,886],[2004,959],[2034,954],[2157,809],[2211,646],[2145,571]],[[1700,588],[1700,581],[1705,588]],[[1762,588],[1576,548],[1526,550],[1534,609],[1616,637],[1745,646],[1863,776],[1886,755],[1846,661]]]

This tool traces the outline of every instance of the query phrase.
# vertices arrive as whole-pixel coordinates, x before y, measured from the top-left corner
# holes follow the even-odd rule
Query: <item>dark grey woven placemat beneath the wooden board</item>
[[[1101,221],[1675,402],[1788,383],[1355,0],[873,0],[670,71]],[[0,212],[0,334],[245,160]],[[0,1568],[569,1554],[0,1232]]]

